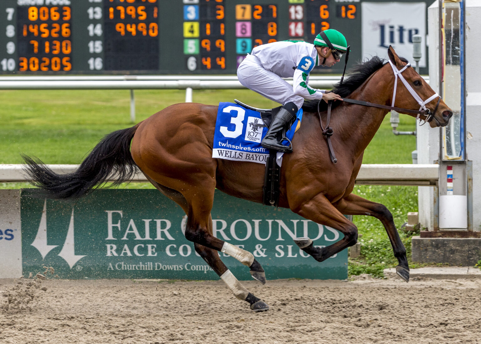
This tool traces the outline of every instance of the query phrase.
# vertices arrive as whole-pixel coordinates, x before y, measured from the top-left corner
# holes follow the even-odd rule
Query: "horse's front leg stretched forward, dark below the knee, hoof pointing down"
[[[343,198],[336,205],[336,208],[345,215],[369,215],[381,221],[391,241],[394,257],[399,262],[399,265],[396,266],[396,272],[406,282],[409,282],[409,265],[407,264],[406,249],[401,238],[399,238],[391,212],[380,203],[372,202],[354,194]]]

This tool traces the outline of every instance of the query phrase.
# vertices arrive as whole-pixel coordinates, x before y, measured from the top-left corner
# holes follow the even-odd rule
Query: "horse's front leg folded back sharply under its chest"
[[[357,227],[334,208],[329,200],[322,194],[316,195],[310,201],[291,210],[308,220],[327,225],[344,234],[344,238],[324,248],[315,247],[313,241],[309,238],[294,239],[294,242],[299,248],[309,253],[318,262],[328,259],[345,248],[353,246],[357,242]]]

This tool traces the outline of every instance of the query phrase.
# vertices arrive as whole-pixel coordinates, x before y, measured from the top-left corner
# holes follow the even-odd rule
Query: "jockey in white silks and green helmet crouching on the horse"
[[[302,40],[284,40],[255,47],[241,62],[237,77],[241,84],[266,98],[282,104],[261,142],[265,148],[291,151],[282,145],[277,134],[291,125],[304,99],[342,100],[335,93],[313,89],[309,73],[315,66],[332,67],[347,50],[342,33],[334,29],[321,31],[314,44]],[[293,86],[282,78],[294,78]]]

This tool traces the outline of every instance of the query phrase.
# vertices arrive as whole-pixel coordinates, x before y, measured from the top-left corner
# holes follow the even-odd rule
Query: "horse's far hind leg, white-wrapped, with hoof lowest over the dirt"
[[[165,196],[175,201],[184,210],[186,214],[189,212],[187,200],[180,192],[161,185],[149,177],[147,177],[147,179],[149,179],[152,185],[154,185]],[[210,235],[212,235],[212,217],[210,216],[210,214],[207,231]],[[251,309],[253,311],[259,312],[269,309],[269,306],[264,301],[247,291],[247,289],[241,284],[241,282],[239,282],[239,280],[235,278],[235,276],[230,272],[227,266],[222,262],[217,251],[205,247],[197,242],[194,242],[194,249],[197,253],[199,253],[202,259],[214,270],[214,272],[227,284],[227,286],[234,293],[234,295],[238,299],[247,301],[251,305]],[[254,262],[257,261],[254,260]],[[262,267],[260,265],[259,267],[262,270]],[[262,271],[264,273],[264,270]]]

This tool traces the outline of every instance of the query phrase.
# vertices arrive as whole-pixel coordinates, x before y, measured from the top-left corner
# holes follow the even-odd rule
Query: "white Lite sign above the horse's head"
[[[362,56],[387,59],[390,45],[399,56],[413,60],[413,36],[420,35],[419,67],[426,67],[426,3],[362,2]]]

